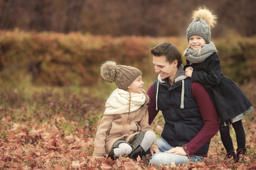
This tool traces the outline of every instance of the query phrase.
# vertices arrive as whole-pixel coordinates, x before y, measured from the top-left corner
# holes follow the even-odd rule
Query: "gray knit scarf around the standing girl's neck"
[[[188,48],[185,50],[185,56],[187,56],[187,59],[191,65],[192,63],[201,63],[205,61],[205,59],[215,52],[217,52],[216,46],[212,41],[210,41],[209,44],[202,46],[200,54],[199,50],[195,51],[192,48]]]

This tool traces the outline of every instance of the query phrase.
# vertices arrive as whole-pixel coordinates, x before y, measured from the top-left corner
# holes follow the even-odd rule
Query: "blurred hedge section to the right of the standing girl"
[[[221,59],[221,69],[239,84],[256,78],[256,36],[241,37],[235,33],[214,42]]]

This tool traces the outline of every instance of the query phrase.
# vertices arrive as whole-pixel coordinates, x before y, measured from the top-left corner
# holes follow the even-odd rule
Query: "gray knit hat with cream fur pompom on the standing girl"
[[[210,42],[210,29],[217,23],[217,16],[212,14],[206,7],[199,7],[192,13],[192,23],[187,28],[187,41],[189,37],[197,35]]]

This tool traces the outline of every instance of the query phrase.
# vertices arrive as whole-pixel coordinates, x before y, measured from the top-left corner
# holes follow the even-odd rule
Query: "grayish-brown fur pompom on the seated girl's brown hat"
[[[101,66],[101,78],[108,82],[114,82],[116,67],[117,64],[114,61],[106,61]]]

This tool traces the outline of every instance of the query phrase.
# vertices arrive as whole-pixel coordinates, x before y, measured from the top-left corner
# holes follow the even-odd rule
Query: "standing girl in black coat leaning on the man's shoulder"
[[[192,82],[200,82],[208,91],[220,116],[221,141],[227,151],[225,158],[236,161],[241,154],[246,154],[245,130],[241,119],[245,114],[254,112],[252,104],[240,88],[221,73],[220,58],[210,41],[210,28],[216,24],[217,16],[202,7],[193,12],[193,21],[187,28],[188,48],[185,75]],[[229,125],[236,131],[237,153],[234,151]]]

